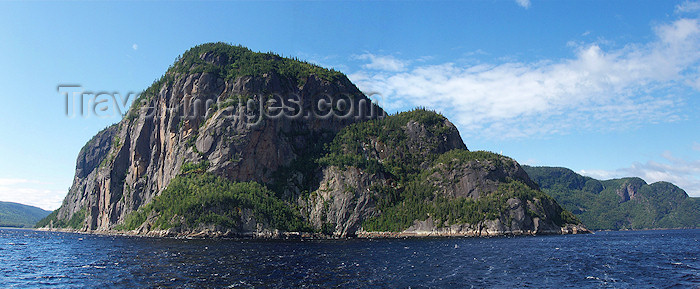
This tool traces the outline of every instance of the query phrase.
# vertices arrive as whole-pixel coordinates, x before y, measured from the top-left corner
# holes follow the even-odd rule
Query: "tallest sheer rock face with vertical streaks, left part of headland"
[[[120,123],[83,148],[59,219],[83,209],[83,230],[113,229],[150,203],[186,164],[206,164],[207,172],[233,181],[267,183],[305,148],[348,124],[384,114],[342,74],[293,61],[288,66],[310,70],[302,83],[302,77],[277,67],[240,72],[231,67],[246,57],[275,65],[281,58],[240,47],[221,52],[218,44],[203,46],[186,53]],[[307,117],[330,113],[316,107],[320,99],[343,99],[361,115]],[[285,101],[287,108],[271,109]],[[269,116],[284,109],[292,116]]]

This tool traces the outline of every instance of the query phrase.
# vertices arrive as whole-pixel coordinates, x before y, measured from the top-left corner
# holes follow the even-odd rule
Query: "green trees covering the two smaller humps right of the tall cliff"
[[[414,220],[429,217],[437,226],[477,224],[502,217],[507,201],[553,199],[517,180],[501,184],[494,192],[480,198],[449,198],[441,195],[432,179],[440,175],[438,165],[448,170],[471,161],[485,162],[503,169],[512,159],[486,151],[452,149],[441,152],[439,146],[452,133],[446,118],[422,108],[357,123],[344,128],[328,145],[327,154],[319,159],[325,166],[355,167],[370,174],[387,175],[397,182],[375,186],[380,212],[363,223],[367,231],[402,231]],[[412,125],[409,125],[412,124]],[[439,178],[440,176],[438,176]],[[528,212],[531,213],[531,212]],[[533,217],[534,213],[531,214]],[[552,216],[557,225],[579,224],[571,213]]]

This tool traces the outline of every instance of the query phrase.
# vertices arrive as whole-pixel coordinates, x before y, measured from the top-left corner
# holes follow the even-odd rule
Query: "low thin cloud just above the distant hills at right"
[[[634,176],[647,183],[666,181],[684,189],[690,196],[700,197],[700,160],[676,158],[670,152],[663,153],[662,158],[662,162],[648,161],[612,171],[582,170],[579,173],[601,180]]]

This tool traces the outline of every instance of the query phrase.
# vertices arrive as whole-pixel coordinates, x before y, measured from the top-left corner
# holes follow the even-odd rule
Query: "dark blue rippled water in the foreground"
[[[0,288],[700,288],[700,230],[331,241],[0,229]]]

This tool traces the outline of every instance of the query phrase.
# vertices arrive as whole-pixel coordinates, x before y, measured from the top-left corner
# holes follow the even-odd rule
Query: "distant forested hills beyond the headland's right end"
[[[700,199],[668,183],[600,181],[567,168],[523,166],[546,194],[593,230],[698,228]]]

